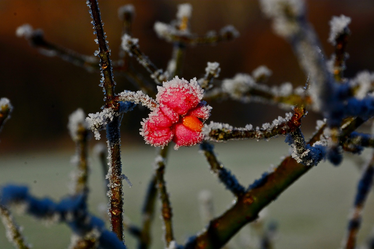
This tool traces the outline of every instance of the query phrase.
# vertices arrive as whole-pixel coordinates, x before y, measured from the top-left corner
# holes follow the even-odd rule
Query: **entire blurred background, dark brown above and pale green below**
[[[171,56],[172,44],[157,38],[153,24],[156,21],[168,23],[174,19],[177,5],[185,2],[99,1],[102,20],[105,23],[104,31],[112,51],[111,58],[118,58],[120,46],[122,25],[117,17],[117,9],[123,4],[131,3],[136,12],[132,26],[133,36],[140,40],[141,50],[159,68],[165,68]],[[192,32],[203,35],[209,30],[219,31],[223,26],[231,24],[240,32],[240,37],[214,46],[188,47],[183,75],[180,77],[202,77],[206,62],[217,61],[221,64],[219,79],[233,77],[236,73],[251,73],[256,67],[266,65],[273,71],[268,82],[270,85],[291,82],[294,87],[304,86],[306,76],[300,70],[290,46],[273,34],[271,22],[260,12],[258,1],[188,2],[193,6]],[[333,51],[327,42],[329,20],[333,15],[341,14],[352,18],[349,25],[352,36],[347,49],[350,58],[346,63],[346,76],[353,77],[362,70],[374,71],[374,2],[306,2],[309,20],[316,29],[327,56]],[[55,200],[68,192],[68,174],[73,169],[69,166],[69,161],[74,153],[74,145],[66,128],[68,116],[79,107],[86,113],[100,110],[104,103],[102,88],[98,86],[100,76],[99,73],[90,73],[59,58],[40,54],[37,49],[29,46],[25,39],[16,37],[15,30],[28,23],[34,28],[41,28],[50,42],[85,55],[93,55],[98,46],[93,41],[95,36],[90,22],[91,17],[85,1],[0,1],[0,97],[9,98],[14,106],[12,118],[0,133],[0,185],[7,182],[24,183],[30,185],[37,196],[52,196]],[[142,68],[140,72],[148,75]],[[117,82],[116,92],[125,89],[137,90],[126,82],[125,77],[116,74],[114,76]],[[225,101],[208,104],[213,107],[210,120],[234,126],[244,126],[247,123],[261,125],[278,116],[284,116],[286,112],[277,107],[256,103],[243,105]],[[138,223],[141,220],[139,207],[153,171],[151,163],[154,150],[145,145],[139,135],[140,121],[147,117],[148,112],[145,108],[137,107],[125,115],[121,126],[124,133],[123,158],[126,160],[124,173],[135,183],[131,189],[125,191],[125,200],[129,200],[125,201],[125,210],[128,210],[127,214]],[[315,126],[315,120],[319,118],[321,117],[310,112],[303,120],[303,131],[310,133]],[[278,138],[270,142],[232,142],[217,146],[217,151],[219,159],[232,169],[233,173],[239,175],[240,181],[246,185],[259,178],[270,165],[279,163],[279,157],[287,154],[288,146],[283,141],[283,138]],[[96,141],[92,141],[91,146],[95,143]],[[231,194],[224,191],[215,176],[209,173],[204,158],[196,156],[197,150],[182,148],[177,152],[172,151],[170,170],[167,170],[169,175],[166,175],[175,209],[175,229],[179,243],[203,227],[196,215],[197,194],[200,190],[209,189],[213,193],[217,206],[216,214],[222,213],[232,202]],[[94,194],[90,197],[90,204],[92,212],[100,215],[96,207],[99,203],[104,203],[105,206],[107,200],[103,184],[97,184],[103,182],[102,174],[94,156],[92,157],[91,193]],[[279,222],[279,239],[275,248],[339,247],[360,174],[354,167],[358,158],[346,156],[346,159],[346,163],[339,168],[327,163],[319,165],[269,206],[269,219]],[[374,219],[373,202],[371,197],[368,210],[365,210],[367,216],[364,221],[367,223],[363,224],[360,242],[365,241],[373,225],[370,222]],[[160,224],[158,214],[155,220]],[[25,227],[25,234],[35,248],[66,248],[68,245],[68,228],[65,225],[59,225],[52,230],[24,216],[17,216],[17,221]],[[162,248],[160,225],[154,227],[154,248]],[[0,226],[0,248],[12,248],[6,242],[2,229]],[[44,240],[47,237],[50,239]],[[56,247],[53,240],[60,241],[61,245]],[[130,245],[134,243],[131,239],[128,241]]]

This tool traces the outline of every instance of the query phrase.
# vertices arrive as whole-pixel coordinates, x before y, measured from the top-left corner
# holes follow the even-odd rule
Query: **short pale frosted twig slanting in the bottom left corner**
[[[24,237],[21,233],[21,228],[16,225],[12,214],[7,209],[7,207],[0,205],[0,216],[1,220],[3,221],[4,227],[6,229],[6,236],[9,242],[13,243],[13,245],[18,249],[29,249],[31,248],[25,242]]]

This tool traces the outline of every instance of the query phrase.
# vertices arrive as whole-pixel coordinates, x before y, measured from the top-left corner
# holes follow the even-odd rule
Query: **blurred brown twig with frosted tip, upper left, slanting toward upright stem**
[[[95,56],[82,55],[71,49],[53,44],[45,39],[42,30],[34,30],[30,24],[19,26],[16,30],[16,35],[24,37],[30,42],[31,46],[38,48],[43,55],[58,56],[64,61],[83,67],[88,71],[99,69],[99,61]]]

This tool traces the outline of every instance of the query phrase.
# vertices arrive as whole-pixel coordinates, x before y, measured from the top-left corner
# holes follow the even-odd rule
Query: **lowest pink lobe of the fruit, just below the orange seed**
[[[177,150],[180,146],[193,146],[203,141],[204,135],[201,132],[189,129],[183,123],[177,123],[173,126],[175,142],[174,149]]]

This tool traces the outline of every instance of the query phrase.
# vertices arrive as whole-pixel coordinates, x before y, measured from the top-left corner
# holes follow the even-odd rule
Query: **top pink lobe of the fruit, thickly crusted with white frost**
[[[183,115],[188,110],[197,106],[203,98],[203,90],[197,83],[196,78],[188,83],[185,79],[174,79],[164,82],[162,86],[158,86],[156,101],[160,104],[167,105],[176,113]]]

